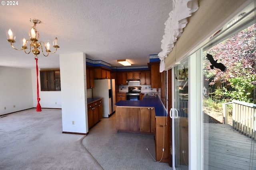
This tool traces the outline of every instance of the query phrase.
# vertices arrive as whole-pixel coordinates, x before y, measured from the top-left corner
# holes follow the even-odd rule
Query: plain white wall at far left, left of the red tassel
[[[0,115],[33,107],[31,69],[0,66]]]

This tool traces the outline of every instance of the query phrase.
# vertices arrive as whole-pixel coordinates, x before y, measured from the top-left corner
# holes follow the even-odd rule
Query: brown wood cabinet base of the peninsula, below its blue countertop
[[[167,117],[155,115],[154,107],[116,107],[116,129],[119,132],[154,134],[156,160],[160,162],[169,160],[169,126],[166,121]]]

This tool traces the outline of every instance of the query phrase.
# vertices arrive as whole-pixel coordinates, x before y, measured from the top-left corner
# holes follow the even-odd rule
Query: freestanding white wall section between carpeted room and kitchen
[[[84,53],[60,55],[62,131],[87,133],[86,57]]]

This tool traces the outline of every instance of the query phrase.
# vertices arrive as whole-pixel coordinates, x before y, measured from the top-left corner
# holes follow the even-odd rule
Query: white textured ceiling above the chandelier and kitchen
[[[22,0],[16,6],[0,6],[0,66],[34,68],[33,54],[12,49],[6,30],[16,32],[14,47],[21,48],[32,24],[40,41],[58,37],[56,53],[38,56],[39,68],[59,68],[59,55],[86,53],[86,58],[122,66],[117,59],[128,59],[132,66],[146,66],[149,55],[158,54],[164,35],[164,22],[172,10],[171,0]],[[53,51],[53,49],[52,49]],[[72,56],[70,56],[72,57]]]

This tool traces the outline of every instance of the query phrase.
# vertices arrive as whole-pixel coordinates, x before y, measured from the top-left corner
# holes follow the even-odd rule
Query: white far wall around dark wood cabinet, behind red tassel
[[[32,87],[33,87],[33,102],[34,102],[33,107],[36,107],[37,106],[36,68],[31,69],[31,74],[32,74]],[[42,108],[59,108],[60,109],[61,108],[61,91],[41,91],[40,71],[38,71],[38,85],[39,85],[40,106]]]

